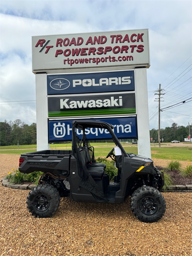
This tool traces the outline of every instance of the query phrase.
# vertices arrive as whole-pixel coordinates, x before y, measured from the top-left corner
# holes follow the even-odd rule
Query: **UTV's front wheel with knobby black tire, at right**
[[[166,203],[163,195],[156,188],[143,186],[132,194],[131,209],[140,221],[155,222],[163,217]]]

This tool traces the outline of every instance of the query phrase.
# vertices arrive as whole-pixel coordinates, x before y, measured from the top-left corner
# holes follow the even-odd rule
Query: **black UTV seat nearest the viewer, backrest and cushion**
[[[86,165],[86,161],[85,161],[86,152],[85,152],[85,149],[80,149],[80,153],[81,153],[82,161]],[[102,179],[102,177],[104,176],[104,173],[105,173],[104,167],[101,167],[101,166],[91,166],[91,165],[90,166],[86,165],[86,167],[87,167],[87,170],[91,174],[93,179]]]

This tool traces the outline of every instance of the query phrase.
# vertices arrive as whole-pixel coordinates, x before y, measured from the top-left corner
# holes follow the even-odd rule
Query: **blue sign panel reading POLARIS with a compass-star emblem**
[[[134,71],[47,75],[48,95],[134,90]]]

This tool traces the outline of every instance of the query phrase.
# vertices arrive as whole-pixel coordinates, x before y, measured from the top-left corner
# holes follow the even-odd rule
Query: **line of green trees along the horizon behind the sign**
[[[190,125],[190,133],[192,125]],[[25,122],[22,122],[20,119],[15,121],[4,120],[0,122],[0,136],[1,136],[1,146],[10,146],[10,145],[30,145],[37,144],[37,125],[32,123],[27,125]],[[173,123],[171,127],[166,127],[161,129],[161,139],[163,142],[170,142],[172,140],[184,141],[184,138],[189,136],[189,126],[179,126],[176,123]],[[150,138],[153,138],[155,142],[158,142],[158,130],[150,130]],[[99,140],[98,142],[113,142],[113,140]],[[132,139],[124,140],[131,142]],[[96,142],[96,141],[90,141]],[[162,141],[161,141],[162,142]],[[58,142],[57,142],[58,143]],[[67,142],[66,142],[67,143]]]

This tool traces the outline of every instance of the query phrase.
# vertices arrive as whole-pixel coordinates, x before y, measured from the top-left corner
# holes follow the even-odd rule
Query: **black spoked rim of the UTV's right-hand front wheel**
[[[158,210],[158,202],[152,196],[145,196],[140,200],[140,210],[146,215],[153,215]]]

